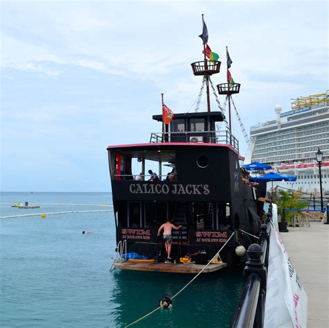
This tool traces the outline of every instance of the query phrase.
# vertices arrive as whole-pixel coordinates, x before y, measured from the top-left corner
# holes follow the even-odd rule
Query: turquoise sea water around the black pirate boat
[[[26,201],[40,209],[10,207]],[[116,256],[112,212],[3,218],[111,209],[110,193],[1,193],[0,204],[0,327],[124,327],[194,277],[110,272]],[[240,271],[201,275],[172,309],[132,327],[229,327],[242,288]]]

